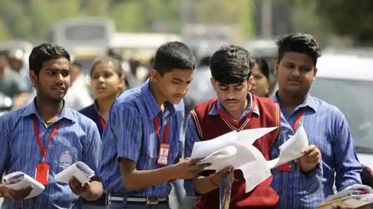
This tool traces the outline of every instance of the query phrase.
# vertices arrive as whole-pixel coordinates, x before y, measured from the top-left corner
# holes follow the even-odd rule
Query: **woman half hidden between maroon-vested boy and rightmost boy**
[[[251,75],[254,77],[254,82],[250,93],[258,97],[268,97],[270,80],[267,61],[263,58],[256,58]]]

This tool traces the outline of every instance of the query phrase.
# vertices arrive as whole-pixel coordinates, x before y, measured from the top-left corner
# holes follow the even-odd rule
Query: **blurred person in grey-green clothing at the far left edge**
[[[0,92],[13,99],[14,107],[20,107],[28,101],[25,80],[9,67],[6,55],[0,55]]]

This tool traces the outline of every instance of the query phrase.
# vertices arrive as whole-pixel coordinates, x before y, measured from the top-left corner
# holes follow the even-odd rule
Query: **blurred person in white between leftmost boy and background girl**
[[[82,71],[82,65],[79,62],[71,64],[71,87],[65,96],[65,104],[73,110],[81,110],[93,103],[89,86]]]

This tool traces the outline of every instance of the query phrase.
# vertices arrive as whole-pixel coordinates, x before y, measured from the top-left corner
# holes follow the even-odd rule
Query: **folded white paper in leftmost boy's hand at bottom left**
[[[39,194],[41,194],[45,189],[43,184],[39,183],[37,180],[31,178],[30,176],[21,171],[16,171],[7,174],[2,178],[2,181],[4,186],[14,190],[20,190],[32,185],[34,188],[31,190],[31,193],[25,199],[36,197]]]

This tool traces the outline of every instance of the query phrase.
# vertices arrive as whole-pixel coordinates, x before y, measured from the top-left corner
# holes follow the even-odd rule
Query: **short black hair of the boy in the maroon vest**
[[[244,82],[250,78],[254,65],[247,49],[236,45],[222,46],[210,59],[211,75],[222,84]]]

